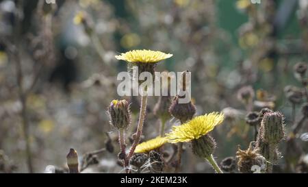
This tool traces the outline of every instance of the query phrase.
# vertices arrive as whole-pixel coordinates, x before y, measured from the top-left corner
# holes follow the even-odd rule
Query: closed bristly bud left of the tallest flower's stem
[[[126,100],[114,100],[108,107],[110,114],[110,124],[116,129],[126,129],[131,123],[131,112],[129,103]]]

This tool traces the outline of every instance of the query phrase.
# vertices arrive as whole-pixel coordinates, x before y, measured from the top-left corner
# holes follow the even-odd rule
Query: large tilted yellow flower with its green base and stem
[[[168,142],[191,142],[195,155],[203,158],[213,166],[216,173],[222,173],[214,160],[213,153],[216,148],[214,138],[209,135],[216,125],[224,120],[224,114],[212,112],[203,116],[196,116],[180,126],[173,126],[172,131],[166,134]]]

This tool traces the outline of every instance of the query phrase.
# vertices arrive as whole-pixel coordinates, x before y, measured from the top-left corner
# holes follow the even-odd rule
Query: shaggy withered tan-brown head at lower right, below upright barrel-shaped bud
[[[259,167],[260,172],[266,169],[266,158],[259,154],[259,149],[253,149],[253,142],[247,150],[238,147],[236,159],[238,160],[238,170],[241,173],[253,173],[254,167]]]

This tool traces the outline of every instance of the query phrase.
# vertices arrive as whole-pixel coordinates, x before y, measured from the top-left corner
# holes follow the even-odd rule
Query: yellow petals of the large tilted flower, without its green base
[[[224,120],[224,114],[212,112],[203,116],[196,116],[188,123],[173,126],[172,132],[166,134],[168,142],[189,142],[211,132],[216,125]]]

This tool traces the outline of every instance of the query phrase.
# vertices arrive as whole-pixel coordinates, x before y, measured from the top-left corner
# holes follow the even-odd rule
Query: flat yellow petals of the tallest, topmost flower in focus
[[[125,60],[127,62],[141,62],[141,63],[156,63],[161,60],[172,57],[172,54],[166,54],[161,51],[151,50],[133,50],[127,53],[116,55],[116,59]]]

